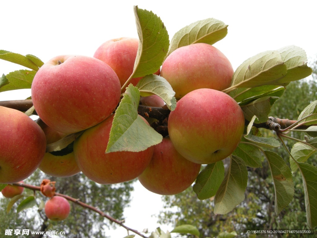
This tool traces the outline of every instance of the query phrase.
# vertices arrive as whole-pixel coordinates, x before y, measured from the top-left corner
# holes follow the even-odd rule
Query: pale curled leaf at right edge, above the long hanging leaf
[[[316,146],[317,138],[311,139],[310,141],[308,141],[308,143],[312,144],[313,146]],[[314,148],[302,142],[295,143],[291,149],[291,155],[297,162],[306,162],[307,159],[311,155],[313,155],[315,152],[316,150]],[[289,163],[290,163],[292,171],[295,172],[296,169],[298,168],[297,164],[291,158],[289,160]]]

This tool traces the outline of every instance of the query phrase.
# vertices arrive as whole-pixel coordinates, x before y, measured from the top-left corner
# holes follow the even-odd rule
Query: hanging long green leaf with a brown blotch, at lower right
[[[292,172],[280,155],[265,151],[275,190],[275,213],[278,215],[293,200],[294,183]]]

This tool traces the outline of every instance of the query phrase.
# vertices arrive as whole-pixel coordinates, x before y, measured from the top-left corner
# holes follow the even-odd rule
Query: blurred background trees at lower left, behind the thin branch
[[[26,183],[39,186],[43,179],[56,181],[56,192],[67,194],[80,199],[81,202],[88,203],[97,207],[101,211],[107,212],[117,220],[124,220],[123,210],[131,200],[133,191],[133,181],[113,184],[100,185],[89,180],[85,175],[79,173],[67,178],[51,177],[44,174],[39,169],[31,175]],[[30,189],[24,189],[24,193],[31,193]],[[49,198],[37,192],[42,201]],[[37,207],[16,213],[16,204],[7,214],[9,199],[3,196],[0,199],[0,231],[6,229],[29,229],[30,231],[65,231],[66,235],[59,237],[84,238],[84,237],[106,237],[107,228],[116,227],[116,224],[101,217],[99,214],[71,203],[71,215],[64,221],[51,221],[45,216],[44,210],[38,211]],[[84,226],[82,224],[85,224]],[[4,233],[3,233],[4,234]],[[38,236],[40,237],[40,236]],[[47,237],[46,235],[42,237]]]

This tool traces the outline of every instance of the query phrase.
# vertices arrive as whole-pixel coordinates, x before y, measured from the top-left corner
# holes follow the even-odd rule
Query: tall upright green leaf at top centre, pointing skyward
[[[139,49],[132,73],[136,78],[153,74],[160,68],[170,42],[160,17],[137,6],[134,6],[134,15],[139,35]]]

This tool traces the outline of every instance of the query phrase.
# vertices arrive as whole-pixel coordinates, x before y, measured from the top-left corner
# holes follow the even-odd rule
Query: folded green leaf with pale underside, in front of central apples
[[[162,141],[162,136],[138,116],[139,90],[130,84],[116,109],[106,153],[139,152]]]

